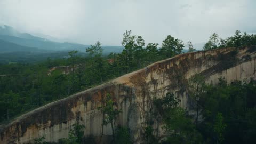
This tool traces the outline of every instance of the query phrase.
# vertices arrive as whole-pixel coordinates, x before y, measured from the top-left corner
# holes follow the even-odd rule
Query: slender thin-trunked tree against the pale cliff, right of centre
[[[198,124],[199,101],[206,86],[204,79],[204,76],[200,74],[195,74],[189,79],[190,95],[196,100],[196,127]]]

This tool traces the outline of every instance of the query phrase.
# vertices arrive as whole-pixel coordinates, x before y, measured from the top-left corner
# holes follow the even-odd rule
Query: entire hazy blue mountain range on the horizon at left
[[[51,39],[47,39],[49,37]],[[10,26],[0,26],[0,63],[31,62],[45,59],[46,55],[61,58],[67,56],[68,51],[78,50],[80,53],[85,53],[86,48],[90,47],[77,43],[55,42],[55,38],[51,36],[47,38],[20,33]],[[123,50],[123,46],[102,46],[102,48],[103,54],[119,53]]]

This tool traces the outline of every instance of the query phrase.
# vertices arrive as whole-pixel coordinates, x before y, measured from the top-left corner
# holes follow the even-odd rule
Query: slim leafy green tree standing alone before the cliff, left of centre
[[[111,95],[108,93],[106,96],[106,99],[103,100],[103,106],[98,107],[98,110],[101,110],[103,113],[103,125],[111,124],[111,129],[112,129],[112,136],[113,136],[113,141],[115,141],[115,121],[119,113],[121,113],[121,110],[118,110],[117,108],[114,108],[115,103],[111,99]]]

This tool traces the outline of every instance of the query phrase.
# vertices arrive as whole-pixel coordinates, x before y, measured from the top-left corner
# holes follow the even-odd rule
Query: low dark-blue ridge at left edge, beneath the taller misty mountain
[[[43,51],[36,47],[22,46],[15,43],[6,42],[0,39],[0,53],[6,52],[24,52],[24,51]]]

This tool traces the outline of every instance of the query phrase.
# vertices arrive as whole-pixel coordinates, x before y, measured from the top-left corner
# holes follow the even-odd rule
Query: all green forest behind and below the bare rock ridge
[[[131,30],[123,35],[121,53],[103,55],[100,42],[89,46],[86,55],[78,51],[67,52],[67,58],[35,63],[0,64],[0,123],[11,122],[15,117],[47,103],[66,98],[71,94],[105,83],[111,79],[146,67],[150,63],[181,54],[183,47],[194,52],[192,42],[184,43],[168,35],[162,44],[148,43]],[[241,34],[222,39],[213,33],[203,47],[204,51],[256,45],[256,35]],[[74,47],[75,48],[75,47]],[[179,98],[172,92],[163,99],[154,99],[154,116],[161,117],[170,134],[166,139],[153,135],[153,127],[145,128],[145,143],[255,143],[256,137],[256,83],[234,81],[227,84],[225,77],[218,85],[207,84],[202,75],[189,79],[190,97],[195,101],[196,118],[190,117],[179,107]],[[99,107],[108,117],[105,123],[113,123],[122,113],[113,108],[111,99]],[[199,113],[202,118],[198,118]],[[93,143],[93,138],[83,138],[83,125],[74,124],[69,137],[59,143]],[[132,143],[129,129],[113,127],[113,142]],[[44,138],[35,143],[46,143]]]

